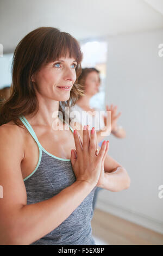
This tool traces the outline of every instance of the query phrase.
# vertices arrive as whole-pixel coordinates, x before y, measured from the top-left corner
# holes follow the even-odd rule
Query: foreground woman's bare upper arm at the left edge
[[[16,220],[17,211],[27,204],[21,161],[24,157],[22,133],[16,125],[0,126],[0,185],[3,198],[0,198],[0,240]],[[10,231],[9,231],[10,232]]]

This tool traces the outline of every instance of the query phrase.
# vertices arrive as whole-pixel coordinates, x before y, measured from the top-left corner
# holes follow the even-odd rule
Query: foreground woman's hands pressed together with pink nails
[[[74,132],[76,150],[72,150],[71,164],[77,180],[87,181],[95,187],[103,181],[104,160],[108,152],[108,143],[104,143],[104,141],[96,155],[97,136],[96,131],[94,130],[95,132],[92,133],[92,130],[91,135],[89,128],[83,130],[83,143],[78,131]]]

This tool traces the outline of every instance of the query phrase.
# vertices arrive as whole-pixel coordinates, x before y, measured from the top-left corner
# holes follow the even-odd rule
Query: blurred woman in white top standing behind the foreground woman
[[[111,131],[112,135],[118,138],[125,138],[126,131],[123,129],[122,126],[117,125],[117,119],[121,115],[121,112],[118,114],[116,113],[117,106],[114,107],[114,105],[111,104],[111,106],[109,107],[108,105],[106,105],[106,111],[111,111],[111,126],[106,122],[106,118],[109,118],[110,112],[107,112],[106,116],[102,116],[101,114],[99,114],[100,109],[91,108],[91,97],[99,92],[100,82],[101,80],[99,77],[99,71],[97,69],[82,69],[82,74],[78,78],[78,83],[83,86],[85,95],[79,97],[76,105],[70,108],[70,113],[75,111],[75,120],[81,123],[82,126],[84,126],[85,124],[89,124],[90,129],[92,129],[93,126],[95,127],[95,130],[97,130],[96,133],[98,143],[101,147],[101,144],[104,140],[102,132],[105,132],[105,134],[107,133],[109,136]],[[97,187],[95,195],[93,197],[93,210],[95,209],[97,193],[99,190],[102,190],[102,188]]]

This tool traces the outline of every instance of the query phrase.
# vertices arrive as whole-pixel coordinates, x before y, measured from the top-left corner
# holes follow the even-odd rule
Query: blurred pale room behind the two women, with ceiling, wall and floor
[[[10,87],[18,42],[41,26],[73,35],[82,67],[101,71],[92,107],[118,106],[127,136],[109,139],[109,155],[126,168],[128,190],[98,194],[92,219],[97,245],[163,245],[163,1],[1,0],[0,89]]]

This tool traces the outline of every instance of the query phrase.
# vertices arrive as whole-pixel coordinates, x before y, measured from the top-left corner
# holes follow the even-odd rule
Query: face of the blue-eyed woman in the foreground
[[[42,66],[34,74],[32,80],[37,92],[47,99],[67,101],[70,98],[71,88],[76,81],[76,65],[76,60],[67,56]],[[61,87],[70,88],[64,90]]]

